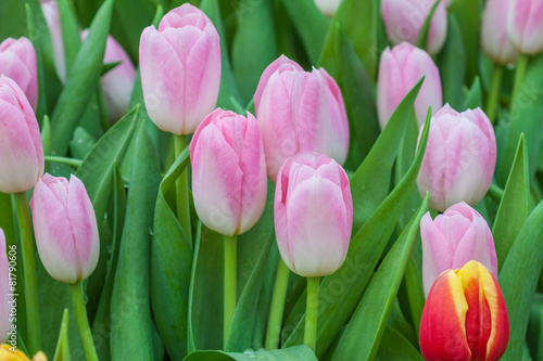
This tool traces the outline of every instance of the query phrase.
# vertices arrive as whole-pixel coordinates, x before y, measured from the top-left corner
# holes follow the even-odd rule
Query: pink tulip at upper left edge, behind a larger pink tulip
[[[38,103],[36,51],[28,38],[8,38],[0,43],[0,74],[13,79],[25,92],[33,108]]]

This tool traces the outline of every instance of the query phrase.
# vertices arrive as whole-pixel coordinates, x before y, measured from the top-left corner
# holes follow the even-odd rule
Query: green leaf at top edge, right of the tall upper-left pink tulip
[[[249,103],[256,91],[264,69],[279,55],[274,3],[272,0],[240,0],[238,4],[238,30],[232,39],[231,56],[243,104]]]

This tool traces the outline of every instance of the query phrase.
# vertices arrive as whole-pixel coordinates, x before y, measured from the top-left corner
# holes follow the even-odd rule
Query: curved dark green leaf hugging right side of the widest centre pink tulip
[[[355,169],[376,142],[379,124],[370,80],[364,64],[337,22],[330,26],[319,66],[326,68],[342,91],[350,130],[350,152],[345,167]]]

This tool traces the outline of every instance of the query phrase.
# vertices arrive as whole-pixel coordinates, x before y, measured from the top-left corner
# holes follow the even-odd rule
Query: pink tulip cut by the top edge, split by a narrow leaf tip
[[[387,35],[393,44],[407,41],[417,43],[420,29],[437,0],[382,0],[381,13]],[[445,1],[440,1],[433,13],[428,33],[428,52],[437,54],[446,37]]]

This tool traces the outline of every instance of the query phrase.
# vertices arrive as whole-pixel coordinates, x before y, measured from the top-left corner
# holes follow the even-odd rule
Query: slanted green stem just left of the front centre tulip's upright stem
[[[281,335],[282,313],[285,311],[285,298],[287,297],[287,287],[289,285],[290,270],[279,258],[277,265],[277,274],[275,276],[274,296],[272,298],[272,308],[269,310],[268,328],[266,332],[266,350],[274,350],[279,347],[279,337]]]

